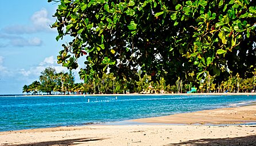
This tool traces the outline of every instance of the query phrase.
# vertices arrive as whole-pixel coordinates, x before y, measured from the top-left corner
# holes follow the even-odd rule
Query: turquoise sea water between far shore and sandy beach
[[[0,97],[0,131],[109,123],[253,101],[256,96]]]

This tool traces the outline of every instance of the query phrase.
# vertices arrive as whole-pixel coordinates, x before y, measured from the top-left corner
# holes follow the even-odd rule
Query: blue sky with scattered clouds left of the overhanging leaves
[[[1,2],[0,94],[22,94],[22,87],[39,80],[48,66],[57,72],[67,71],[57,64],[66,40],[57,42],[57,31],[50,28],[57,5],[47,0]],[[76,82],[81,82],[78,70],[74,74]]]

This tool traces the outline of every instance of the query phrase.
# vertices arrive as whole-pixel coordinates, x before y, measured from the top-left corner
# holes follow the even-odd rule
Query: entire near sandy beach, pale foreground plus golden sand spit
[[[256,124],[242,125],[256,121],[255,109],[256,105],[248,105],[133,120],[169,123],[165,125],[85,125],[7,131],[0,132],[0,145],[255,145]],[[231,125],[234,123],[238,125]]]

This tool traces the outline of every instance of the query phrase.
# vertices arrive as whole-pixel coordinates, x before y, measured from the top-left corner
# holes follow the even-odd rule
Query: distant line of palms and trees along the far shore
[[[189,82],[187,80],[175,81],[175,84],[166,84],[164,78],[153,81],[151,75],[142,75],[141,70],[135,73],[139,81],[127,81],[124,78],[116,78],[113,73],[104,73],[103,76],[89,79],[87,82],[74,82],[71,71],[56,73],[54,68],[46,68],[41,72],[39,81],[23,86],[26,94],[112,94],[112,93],[186,93],[192,87],[197,88],[198,93],[223,93],[223,92],[254,92],[256,86],[256,72],[252,78],[241,78],[230,74],[225,81],[216,82],[215,76],[204,74],[204,80]],[[142,75],[142,76],[141,76]],[[81,78],[84,80],[84,78]]]

